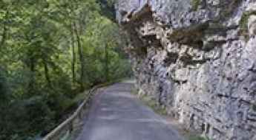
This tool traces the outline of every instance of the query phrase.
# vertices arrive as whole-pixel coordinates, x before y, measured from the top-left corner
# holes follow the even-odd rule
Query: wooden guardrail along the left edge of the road
[[[79,105],[79,108],[76,109],[73,115],[66,119],[65,122],[62,122],[62,124],[52,130],[50,133],[48,133],[47,136],[45,136],[45,138],[43,138],[42,140],[65,139],[65,136],[72,133],[76,129],[75,127],[77,127],[77,125],[82,122],[85,111],[88,111],[88,106],[90,104],[91,97],[93,97],[93,94],[97,91],[98,88],[102,88],[104,86],[106,86],[106,84],[97,85],[91,88],[91,90],[88,91],[88,96],[82,102],[82,104]]]

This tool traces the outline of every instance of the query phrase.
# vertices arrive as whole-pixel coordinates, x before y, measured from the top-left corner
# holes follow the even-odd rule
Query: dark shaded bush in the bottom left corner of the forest
[[[42,133],[42,130],[50,130],[54,125],[53,116],[53,111],[50,111],[42,97],[13,101],[5,110],[4,117],[1,118],[3,121],[0,125],[5,126],[2,130],[4,136],[1,137],[3,139],[10,139],[10,137],[26,139],[27,136]]]

